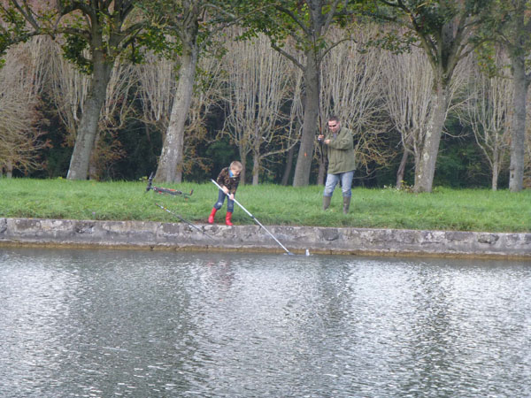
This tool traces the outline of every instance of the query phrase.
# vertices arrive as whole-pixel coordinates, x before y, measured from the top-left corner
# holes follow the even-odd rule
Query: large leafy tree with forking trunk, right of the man
[[[426,52],[434,73],[431,83],[431,114],[420,149],[419,168],[413,188],[416,192],[431,192],[439,143],[450,105],[450,81],[458,63],[481,45],[481,41],[473,33],[489,18],[492,1],[379,1],[388,7],[388,11],[396,11],[394,20],[400,28],[406,28],[409,32],[402,37],[409,43],[419,43]],[[381,42],[396,49],[394,44],[397,37],[399,34],[391,34]]]

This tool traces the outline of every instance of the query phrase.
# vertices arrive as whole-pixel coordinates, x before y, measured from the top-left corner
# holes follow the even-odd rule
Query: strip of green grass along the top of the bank
[[[0,179],[0,217],[176,221],[161,203],[192,223],[204,223],[217,199],[212,182],[158,184],[189,199],[146,192],[146,182]],[[236,199],[262,224],[281,226],[353,226],[482,232],[531,232],[531,190],[435,188],[412,194],[392,188],[354,188],[350,213],[342,214],[341,190],[330,209],[321,210],[322,187],[240,186]],[[227,204],[216,217],[222,223]],[[235,205],[235,225],[254,224]]]

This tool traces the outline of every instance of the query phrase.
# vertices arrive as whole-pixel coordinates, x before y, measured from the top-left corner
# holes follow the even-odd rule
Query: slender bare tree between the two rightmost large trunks
[[[498,66],[506,64],[502,54],[496,57]],[[491,172],[491,187],[496,191],[499,173],[511,148],[513,86],[508,77],[489,78],[473,67],[468,100],[458,109],[462,121],[471,126],[477,144],[487,159]]]

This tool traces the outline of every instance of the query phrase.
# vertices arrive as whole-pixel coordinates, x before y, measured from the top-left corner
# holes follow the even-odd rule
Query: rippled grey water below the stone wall
[[[0,249],[1,397],[531,395],[531,264]]]

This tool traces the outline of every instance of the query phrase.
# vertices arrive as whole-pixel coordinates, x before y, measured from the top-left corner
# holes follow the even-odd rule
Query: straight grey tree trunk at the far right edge
[[[524,155],[526,141],[526,101],[529,82],[526,77],[525,57],[512,55],[512,100],[514,114],[511,129],[511,165],[509,166],[509,189],[519,192],[524,183]]]

